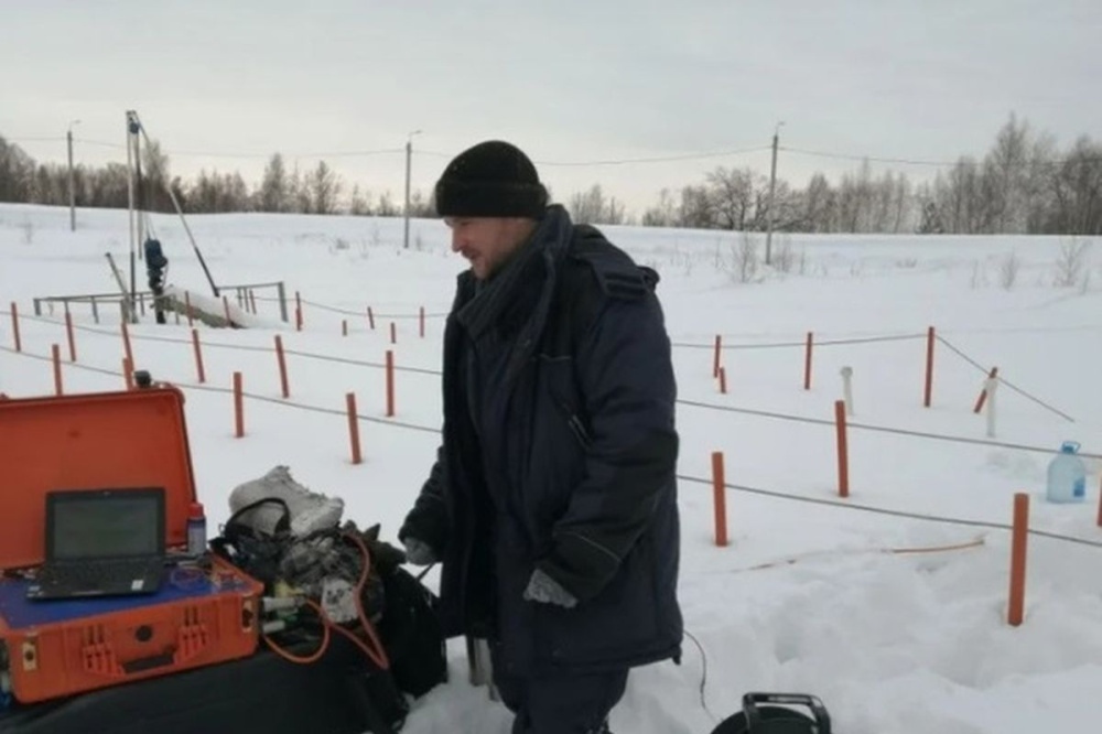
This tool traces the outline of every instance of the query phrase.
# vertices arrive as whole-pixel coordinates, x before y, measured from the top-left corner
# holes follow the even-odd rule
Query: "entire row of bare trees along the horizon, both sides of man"
[[[400,216],[403,202],[389,192],[372,196],[348,190],[321,161],[300,171],[274,153],[259,184],[240,173],[201,171],[191,181],[171,176],[156,141],[142,150],[143,208],[171,212],[169,191],[185,212],[277,212]],[[127,169],[78,165],[77,206],[126,207]],[[68,170],[36,163],[0,137],[0,202],[68,204]],[[769,179],[749,168],[719,166],[700,183],[663,188],[639,218],[599,184],[565,202],[574,218],[592,224],[637,224],[765,230],[770,216]],[[800,233],[1102,234],[1102,143],[1082,136],[1060,149],[1052,136],[1011,115],[982,158],[963,155],[932,180],[912,183],[905,173],[874,174],[868,161],[831,182],[815,173],[802,188],[778,177],[774,228]],[[431,197],[411,194],[411,214],[433,216]]]

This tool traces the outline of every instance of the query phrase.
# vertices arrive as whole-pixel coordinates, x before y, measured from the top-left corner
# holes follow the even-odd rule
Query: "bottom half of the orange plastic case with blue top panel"
[[[263,586],[217,559],[210,572],[177,569],[150,596],[31,602],[28,583],[0,582],[0,644],[21,703],[244,658],[257,649]]]

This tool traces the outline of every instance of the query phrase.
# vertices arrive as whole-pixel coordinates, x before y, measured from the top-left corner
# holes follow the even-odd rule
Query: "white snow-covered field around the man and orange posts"
[[[32,314],[35,296],[111,292],[104,257],[126,266],[125,212],[0,206],[0,310],[10,302]],[[209,295],[179,219],[155,216],[171,259],[171,283]],[[430,466],[440,425],[441,330],[463,262],[447,249],[437,222],[411,225],[402,249],[400,219],[224,215],[190,224],[222,284],[282,280],[304,300],[304,331],[279,320],[272,292],[258,291],[255,327],[202,327],[207,382],[230,387],[240,370],[247,392],[271,400],[246,403],[247,435],[233,435],[233,400],[196,384],[186,324],[132,327],[136,361],[187,392],[187,421],[198,492],[212,522],[227,516],[226,496],[240,482],[288,464],[300,482],[338,495],[346,515],[382,522],[393,539]],[[1058,288],[1060,238],[1040,237],[781,237],[793,252],[788,273],[736,277],[742,238],[730,233],[608,227],[609,237],[656,267],[667,311],[680,397],[692,403],[749,409],[825,423],[781,420],[699,404],[679,409],[685,626],[682,665],[635,671],[613,715],[613,730],[633,734],[704,734],[736,710],[749,690],[813,692],[842,734],[1087,731],[1102,721],[1102,528],[1098,460],[1088,461],[1085,504],[1044,501],[1046,450],[1070,439],[1102,452],[1102,258],[1090,278]],[[1096,247],[1096,246],[1094,246]],[[1019,265],[1004,288],[1009,259]],[[140,273],[139,273],[140,277]],[[236,305],[236,303],[235,303]],[[371,306],[377,331],[370,331]],[[429,314],[418,336],[420,307]],[[347,310],[346,315],[337,310]],[[292,303],[293,310],[293,303]],[[67,355],[56,310],[21,321],[23,349]],[[118,313],[74,307],[78,365],[66,359],[67,391],[122,387]],[[392,319],[391,316],[399,316]],[[342,336],[342,320],[349,334]],[[389,324],[397,324],[397,345]],[[836,497],[833,402],[840,369],[853,368],[854,415],[863,425],[986,440],[985,417],[972,412],[981,369],[939,342],[933,406],[922,407],[928,326],[983,367],[1036,400],[1003,385],[996,442],[961,443],[851,429],[851,498],[840,500],[904,512],[1007,523],[1015,493],[1033,496],[1031,527],[1095,543],[1030,539],[1025,623],[1006,624],[1009,533],[855,511],[731,490],[731,544],[712,540],[711,454],[726,457],[727,481],[821,500]],[[803,390],[802,344],[814,353],[814,384]],[[291,399],[280,397],[276,357],[281,334],[289,356]],[[730,390],[712,378],[711,345],[723,335]],[[906,337],[866,341],[872,337]],[[151,339],[149,337],[158,337]],[[168,337],[172,341],[163,341]],[[855,341],[855,342],[854,342]],[[773,345],[773,346],[768,346]],[[50,393],[46,363],[15,355],[11,320],[0,317],[0,391]],[[263,347],[242,350],[235,347]],[[753,348],[757,346],[757,348]],[[378,367],[304,356],[381,364],[396,353],[398,414],[387,425],[383,373]],[[115,375],[82,369],[94,366]],[[349,461],[346,392],[355,391],[365,462]],[[1045,406],[1039,402],[1044,402]],[[283,402],[325,408],[295,409]],[[1049,409],[1051,407],[1055,410]],[[1069,421],[1058,412],[1073,419]],[[951,546],[957,550],[931,550]],[[927,552],[899,553],[915,550]],[[430,575],[434,583],[434,576]],[[415,704],[404,731],[508,732],[509,716],[465,679],[462,646],[451,648],[453,680]],[[705,705],[706,704],[706,709]],[[714,715],[714,716],[713,716]]]

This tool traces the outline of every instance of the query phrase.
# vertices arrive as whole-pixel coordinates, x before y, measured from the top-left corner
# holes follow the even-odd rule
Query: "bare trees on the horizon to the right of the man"
[[[587,211],[602,209],[594,187]],[[752,169],[717,168],[700,184],[663,190],[640,224],[764,230],[769,179]],[[874,175],[868,161],[836,184],[815,173],[803,188],[776,182],[774,227],[804,233],[1102,235],[1102,143],[1082,136],[1059,149],[1047,133],[1011,115],[982,159],[961,156],[918,185],[905,173]]]

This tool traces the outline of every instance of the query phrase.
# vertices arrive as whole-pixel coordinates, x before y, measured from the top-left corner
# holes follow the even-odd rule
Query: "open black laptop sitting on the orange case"
[[[164,573],[164,488],[46,495],[46,560],[30,600],[152,594]]]

